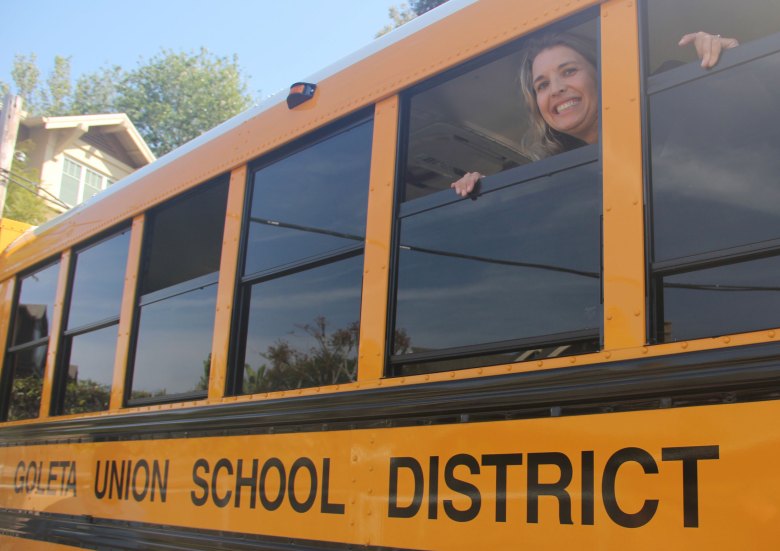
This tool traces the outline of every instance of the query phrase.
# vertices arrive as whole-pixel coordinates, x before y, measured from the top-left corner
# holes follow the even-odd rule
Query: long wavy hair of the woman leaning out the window
[[[523,154],[534,161],[583,145],[577,138],[550,128],[536,104],[532,71],[534,59],[544,50],[555,46],[566,46],[578,52],[593,65],[594,70],[597,63],[595,41],[576,34],[549,33],[530,39],[523,47],[519,79],[524,108],[528,113],[530,124],[528,132],[523,136],[521,148]]]

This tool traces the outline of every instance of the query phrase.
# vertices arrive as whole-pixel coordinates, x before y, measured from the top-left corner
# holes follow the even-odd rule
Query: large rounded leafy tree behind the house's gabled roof
[[[251,104],[238,59],[163,50],[127,73],[116,107],[157,155],[197,138]]]

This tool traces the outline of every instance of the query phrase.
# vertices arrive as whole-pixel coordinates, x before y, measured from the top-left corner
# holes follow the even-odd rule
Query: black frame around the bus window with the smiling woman
[[[399,280],[399,251],[401,246],[401,221],[407,216],[422,213],[426,210],[436,209],[442,206],[453,204],[459,201],[478,200],[478,198],[484,194],[488,194],[494,191],[498,191],[503,188],[513,187],[516,185],[522,185],[524,182],[530,181],[534,178],[539,178],[546,175],[552,175],[565,170],[570,170],[578,166],[583,166],[590,163],[597,163],[600,174],[603,174],[601,169],[602,165],[602,130],[601,120],[599,120],[599,143],[592,145],[585,145],[571,151],[566,151],[553,155],[538,161],[531,161],[527,164],[523,164],[494,175],[486,176],[482,178],[472,194],[469,197],[460,197],[452,190],[441,190],[435,193],[425,195],[420,198],[405,200],[406,182],[404,181],[404,173],[407,166],[407,156],[409,153],[410,142],[410,115],[411,115],[411,100],[416,94],[425,92],[429,89],[435,88],[447,81],[453,80],[457,77],[463,76],[470,71],[477,69],[481,66],[487,65],[493,61],[496,61],[502,57],[516,52],[518,47],[522,47],[522,44],[532,39],[535,36],[544,35],[549,32],[565,32],[567,29],[576,27],[583,24],[586,21],[595,20],[596,24],[600,28],[599,20],[599,7],[586,8],[574,15],[568,16],[565,19],[552,23],[551,25],[533,31],[525,36],[522,36],[516,40],[513,40],[509,44],[505,44],[491,50],[475,59],[469,60],[457,67],[449,69],[439,75],[436,75],[401,94],[400,98],[400,123],[398,131],[398,154],[396,156],[396,186],[394,197],[394,209],[393,209],[393,222],[391,231],[391,271],[390,280],[388,285],[388,308],[386,319],[386,336],[385,336],[385,377],[402,377],[407,375],[404,373],[403,367],[409,364],[426,363],[430,364],[431,368],[426,370],[426,373],[435,373],[441,371],[465,369],[469,367],[484,367],[494,364],[505,363],[497,359],[492,363],[483,363],[475,366],[467,366],[465,368],[451,367],[445,365],[444,367],[435,367],[439,362],[447,362],[455,359],[468,359],[475,356],[494,355],[498,357],[503,353],[511,353],[515,351],[526,351],[529,349],[543,349],[559,344],[584,344],[587,348],[589,342],[598,340],[598,350],[604,348],[604,322],[603,316],[599,318],[598,328],[570,331],[565,333],[557,333],[552,335],[543,336],[541,338],[518,338],[510,341],[499,341],[492,343],[481,343],[476,345],[453,347],[442,350],[435,350],[432,352],[419,352],[410,354],[393,354],[394,335],[395,335],[395,320],[396,320],[396,305],[398,297],[398,280]],[[596,37],[596,52],[597,52],[597,66],[596,73],[601,83],[601,34],[597,32]],[[599,85],[599,90],[601,86]],[[601,94],[599,96],[599,106],[601,105]],[[603,182],[602,182],[603,192]],[[600,306],[603,309],[604,303],[604,278],[603,278],[603,213],[599,213],[599,288],[600,288]],[[597,350],[593,350],[596,352]],[[573,352],[579,354],[581,352]]]

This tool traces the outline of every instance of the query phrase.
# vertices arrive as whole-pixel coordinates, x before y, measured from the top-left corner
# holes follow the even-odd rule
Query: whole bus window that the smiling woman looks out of
[[[596,20],[586,15],[531,39],[554,31],[595,45]],[[391,375],[599,347],[598,146],[583,142],[531,162],[532,123],[517,83],[530,44],[510,45],[407,98]],[[595,80],[594,109],[597,87]],[[487,177],[473,200],[462,199],[450,184],[472,171]]]

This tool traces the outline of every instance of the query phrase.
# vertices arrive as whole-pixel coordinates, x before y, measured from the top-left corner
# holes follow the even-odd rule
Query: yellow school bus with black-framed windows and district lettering
[[[28,231],[0,545],[774,549],[778,30],[451,0]]]

